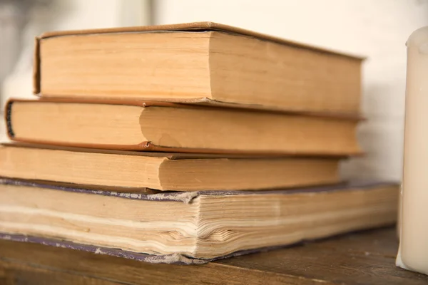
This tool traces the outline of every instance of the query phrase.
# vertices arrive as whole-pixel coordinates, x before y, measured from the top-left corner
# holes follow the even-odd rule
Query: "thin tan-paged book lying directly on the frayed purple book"
[[[339,158],[245,157],[2,145],[0,176],[153,190],[258,190],[340,181]]]

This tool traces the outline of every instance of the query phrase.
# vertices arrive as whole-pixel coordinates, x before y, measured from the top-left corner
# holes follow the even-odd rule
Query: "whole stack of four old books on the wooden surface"
[[[193,264],[392,224],[360,155],[362,58],[213,23],[37,38],[10,100],[0,237]]]

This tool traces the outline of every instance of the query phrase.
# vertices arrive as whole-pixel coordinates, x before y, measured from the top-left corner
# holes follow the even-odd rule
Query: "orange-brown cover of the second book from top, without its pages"
[[[347,156],[347,155],[361,155],[362,151],[360,150],[360,147],[357,144],[357,138],[355,138],[355,133],[352,133],[352,137],[350,136],[349,142],[351,145],[347,145],[345,142],[342,143],[342,147],[337,148],[335,150],[331,145],[327,147],[327,149],[324,149],[324,152],[307,152],[303,149],[298,150],[287,150],[287,151],[275,151],[275,145],[270,145],[268,148],[269,150],[239,150],[235,148],[235,145],[230,145],[226,149],[215,149],[212,147],[205,147],[205,148],[195,148],[195,147],[171,147],[171,146],[165,146],[153,143],[151,141],[141,141],[140,143],[136,145],[121,145],[121,144],[106,144],[101,141],[96,143],[82,143],[82,142],[76,142],[76,141],[59,141],[59,140],[40,140],[40,139],[32,139],[32,138],[20,138],[19,135],[16,135],[14,132],[14,122],[12,119],[12,109],[14,103],[82,103],[82,104],[101,104],[101,105],[129,105],[129,106],[138,106],[142,108],[148,108],[151,106],[156,107],[168,107],[168,108],[187,108],[187,109],[199,109],[199,110],[213,110],[216,108],[207,107],[207,106],[197,106],[197,105],[187,105],[187,104],[180,104],[180,103],[168,103],[165,101],[146,101],[146,100],[114,100],[114,99],[85,99],[85,98],[41,98],[39,100],[24,100],[24,99],[11,99],[6,103],[6,113],[5,113],[5,120],[6,120],[6,127],[7,127],[7,134],[9,135],[9,138],[11,140],[17,141],[17,142],[30,142],[30,143],[38,143],[38,144],[44,144],[44,145],[64,145],[64,146],[71,146],[71,147],[90,147],[90,148],[101,148],[101,149],[111,149],[111,150],[144,150],[144,151],[155,151],[155,152],[188,152],[188,153],[223,153],[223,154],[251,154],[251,155],[318,155],[318,156],[325,156],[325,155],[331,155],[331,156]],[[227,112],[233,112],[233,109],[227,109]],[[243,113],[243,110],[238,110],[238,112]],[[257,120],[258,113],[266,113],[263,110],[247,110],[245,112],[246,114],[255,114],[254,118]],[[339,114],[331,114],[331,113],[310,113],[310,112],[297,112],[297,111],[289,111],[289,112],[282,112],[277,113],[277,117],[286,117],[289,116],[290,118],[312,118],[315,120],[322,120],[325,122],[325,124],[328,124],[329,122],[337,121],[337,122],[350,122],[350,128],[355,128],[357,123],[362,120],[362,118],[356,116],[356,115],[339,115]],[[208,122],[209,123],[209,122]],[[253,125],[251,121],[248,122],[249,125]],[[246,128],[246,127],[245,127]],[[191,129],[191,128],[190,128]],[[305,127],[303,125],[300,132],[305,133]],[[278,135],[281,133],[278,131]],[[227,134],[223,134],[227,135]],[[312,138],[312,139],[311,139]],[[308,135],[307,139],[308,141],[313,140],[314,142],[317,140],[318,137],[314,137],[313,134]],[[260,142],[258,142],[258,145],[260,145],[263,140],[263,138],[259,138]],[[334,138],[331,138],[331,140],[334,140]],[[325,141],[322,141],[325,142]],[[335,145],[337,145],[338,140],[335,141]],[[343,148],[345,147],[345,148]],[[320,147],[320,150],[322,147]]]

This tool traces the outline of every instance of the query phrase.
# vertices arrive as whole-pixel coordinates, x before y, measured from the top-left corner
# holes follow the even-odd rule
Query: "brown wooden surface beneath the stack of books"
[[[428,284],[394,265],[397,245],[387,228],[179,266],[1,241],[0,284]]]

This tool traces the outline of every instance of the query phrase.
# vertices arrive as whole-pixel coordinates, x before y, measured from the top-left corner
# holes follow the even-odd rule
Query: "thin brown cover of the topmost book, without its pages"
[[[71,36],[71,35],[91,35],[91,34],[108,34],[108,33],[148,33],[148,32],[165,32],[165,31],[171,31],[171,32],[201,32],[201,31],[215,31],[215,32],[221,32],[229,35],[235,35],[235,36],[245,36],[247,38],[255,38],[260,41],[267,41],[270,43],[279,43],[280,45],[284,46],[291,46],[294,48],[300,48],[305,51],[311,51],[314,53],[324,54],[327,56],[334,56],[334,57],[340,57],[340,58],[347,58],[349,61],[355,61],[360,63],[364,58],[360,56],[353,56],[346,53],[339,53],[336,51],[331,51],[325,48],[318,48],[315,46],[310,46],[303,43],[297,43],[295,41],[289,41],[283,38],[278,38],[275,36],[269,36],[263,33],[258,33],[255,31],[248,31],[243,28],[237,28],[234,26],[228,26],[224,24],[217,24],[213,22],[195,22],[195,23],[186,23],[186,24],[168,24],[168,25],[158,25],[158,26],[135,26],[135,27],[125,27],[125,28],[101,28],[101,29],[88,29],[88,30],[78,30],[78,31],[53,31],[53,32],[47,32],[43,33],[40,37],[36,38],[36,46],[35,46],[35,55],[34,55],[34,93],[40,94],[41,93],[41,49],[40,44],[41,41],[44,41],[49,38],[56,38],[58,36]],[[324,63],[322,63],[324,64]],[[325,68],[325,67],[323,67]],[[352,73],[355,78],[352,79],[352,84],[355,84],[354,89],[348,89],[344,92],[350,92],[352,94],[343,93],[342,95],[347,97],[346,100],[343,100],[342,103],[337,103],[338,105],[334,107],[337,110],[328,110],[329,112],[333,113],[358,113],[358,102],[357,98],[359,98],[360,90],[357,90],[360,88],[359,82],[360,82],[360,74],[358,73]],[[307,81],[310,80],[308,78],[297,78],[297,81]],[[331,83],[329,83],[331,84]],[[340,83],[342,86],[346,86],[347,83],[342,82]],[[337,87],[335,87],[337,88]],[[335,89],[333,88],[333,89]],[[345,88],[345,87],[344,87]],[[345,90],[345,89],[344,89]],[[41,93],[42,96],[51,96],[56,94],[44,94]],[[59,95],[58,95],[59,96]],[[120,94],[120,91],[118,93],[118,96],[126,96],[126,94]],[[144,98],[144,95],[141,95],[142,98]],[[66,96],[64,96],[66,97]],[[100,96],[98,96],[100,97]],[[253,100],[253,102],[244,102],[241,101],[239,98],[237,98],[235,102],[231,101],[225,101],[225,100],[215,100],[212,98],[207,98],[204,96],[195,96],[195,98],[163,98],[159,97],[156,98],[156,100],[175,100],[180,103],[192,103],[192,104],[202,104],[202,105],[219,105],[223,107],[233,107],[233,108],[256,108],[256,109],[267,109],[267,110],[290,110],[287,106],[281,105],[281,104],[275,104],[275,103],[266,103],[264,102],[262,98],[263,96],[260,96],[260,100]],[[352,104],[350,103],[352,101]],[[340,104],[343,104],[344,106],[341,106]],[[350,105],[348,107],[345,107],[345,105],[352,105],[352,108]],[[342,108],[343,107],[343,108]],[[300,108],[300,107],[299,107]],[[323,108],[328,109],[328,106],[324,106]]]

